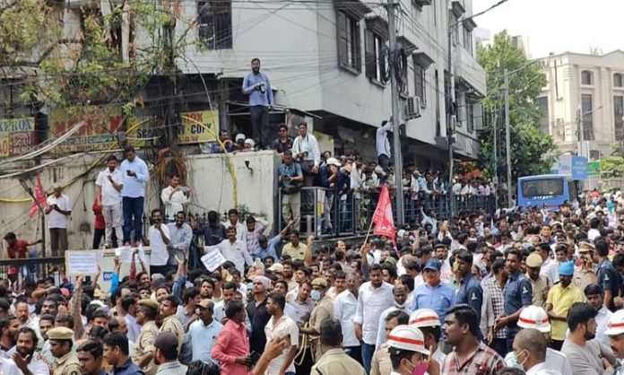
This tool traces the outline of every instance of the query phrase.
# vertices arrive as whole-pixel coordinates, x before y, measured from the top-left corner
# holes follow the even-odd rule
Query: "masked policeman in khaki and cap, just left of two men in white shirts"
[[[334,301],[326,295],[327,292],[327,280],[325,277],[316,277],[312,281],[312,292],[310,292],[310,298],[315,301],[314,309],[310,314],[308,327],[303,327],[301,333],[308,335],[308,343],[312,347],[312,357],[314,362],[325,353],[324,348],[319,342],[319,334],[321,331],[321,323],[323,320],[334,318]]]

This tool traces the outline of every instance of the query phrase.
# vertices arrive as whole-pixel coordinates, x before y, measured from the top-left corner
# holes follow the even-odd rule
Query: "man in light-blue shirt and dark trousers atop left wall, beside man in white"
[[[147,164],[136,156],[133,146],[126,147],[126,160],[121,163],[123,188],[121,198],[124,211],[124,245],[130,245],[130,233],[134,217],[134,245],[143,238],[143,202],[145,200],[145,184],[150,180]]]

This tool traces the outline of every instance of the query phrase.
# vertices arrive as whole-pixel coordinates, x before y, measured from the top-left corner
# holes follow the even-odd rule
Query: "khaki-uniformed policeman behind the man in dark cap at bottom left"
[[[154,364],[154,340],[159,333],[155,323],[159,308],[157,301],[141,300],[136,314],[136,322],[141,325],[141,333],[134,343],[132,361],[143,369],[146,375],[154,375],[158,370],[158,366]]]

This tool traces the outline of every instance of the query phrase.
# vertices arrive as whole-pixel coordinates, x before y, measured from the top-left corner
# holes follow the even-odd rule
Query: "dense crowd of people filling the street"
[[[0,281],[0,365],[38,375],[621,373],[622,214],[619,192],[594,191],[553,210],[429,217],[394,239],[313,251],[292,221],[267,237],[266,222],[236,210],[190,225],[178,212],[169,226],[154,210],[162,266],[134,252],[122,275],[117,259],[109,290],[100,275]],[[182,232],[203,236],[221,266],[188,269]]]

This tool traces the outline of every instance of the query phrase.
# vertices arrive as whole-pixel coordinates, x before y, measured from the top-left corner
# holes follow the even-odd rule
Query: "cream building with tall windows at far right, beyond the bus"
[[[544,133],[563,153],[591,160],[609,155],[612,144],[624,140],[624,52],[566,52],[538,61],[548,79],[538,99]]]

